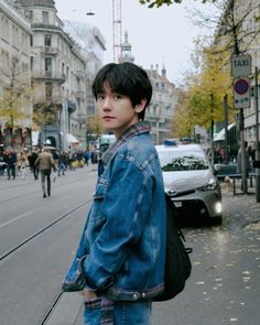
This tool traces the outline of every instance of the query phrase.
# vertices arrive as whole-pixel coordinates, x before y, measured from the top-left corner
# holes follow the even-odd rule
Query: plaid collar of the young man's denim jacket
[[[122,136],[102,154],[101,161],[105,165],[108,164],[109,160],[113,155],[113,153],[118,150],[122,143],[127,142],[129,139],[151,131],[151,124],[148,121],[138,122],[127,129]]]

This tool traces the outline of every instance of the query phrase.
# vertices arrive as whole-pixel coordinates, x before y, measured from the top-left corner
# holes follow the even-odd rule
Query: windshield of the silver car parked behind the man
[[[201,152],[159,152],[159,159],[164,172],[207,170],[208,162]]]

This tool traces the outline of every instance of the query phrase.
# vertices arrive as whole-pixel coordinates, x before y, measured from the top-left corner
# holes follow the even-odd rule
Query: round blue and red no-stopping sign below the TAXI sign
[[[234,106],[235,108],[250,107],[250,85],[246,77],[234,80]]]

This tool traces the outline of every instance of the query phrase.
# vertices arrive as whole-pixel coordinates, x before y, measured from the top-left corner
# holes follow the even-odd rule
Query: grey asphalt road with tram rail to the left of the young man
[[[52,196],[42,197],[39,181],[0,178],[0,257],[91,198],[96,172],[57,177]],[[0,324],[40,324],[61,290],[89,203],[0,261]]]

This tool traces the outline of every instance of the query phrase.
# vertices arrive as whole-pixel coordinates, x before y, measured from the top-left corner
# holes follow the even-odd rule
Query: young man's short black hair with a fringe
[[[93,95],[96,100],[98,95],[104,93],[106,83],[113,93],[129,97],[132,107],[147,99],[144,109],[139,113],[139,119],[144,119],[145,108],[152,98],[152,85],[144,69],[130,62],[105,65],[93,82]]]

